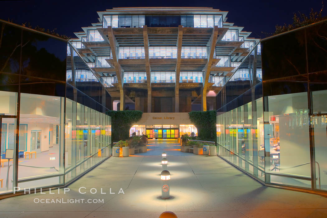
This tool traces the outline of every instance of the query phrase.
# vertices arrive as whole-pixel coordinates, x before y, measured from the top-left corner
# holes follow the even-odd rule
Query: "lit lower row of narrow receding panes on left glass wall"
[[[65,183],[109,157],[110,117],[66,100]]]

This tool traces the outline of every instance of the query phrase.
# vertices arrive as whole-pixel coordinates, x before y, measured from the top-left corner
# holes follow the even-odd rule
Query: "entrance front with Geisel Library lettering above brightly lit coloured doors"
[[[143,113],[130,129],[130,134],[133,132],[146,134],[148,138],[176,139],[185,133],[197,133],[197,130],[188,113]]]

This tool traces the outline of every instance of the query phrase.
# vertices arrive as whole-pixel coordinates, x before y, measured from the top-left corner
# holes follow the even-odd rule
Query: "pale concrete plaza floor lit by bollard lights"
[[[167,146],[171,146],[170,143]],[[164,144],[157,147],[165,149]],[[63,193],[0,200],[0,217],[327,217],[327,198],[263,186],[219,157],[168,155],[171,199],[162,200],[161,156],[109,158]],[[79,187],[86,187],[78,192]],[[95,188],[97,193],[91,194]],[[100,189],[106,194],[101,194]],[[111,192],[115,194],[110,194]],[[120,193],[122,188],[124,193]],[[94,190],[92,190],[94,191]],[[34,199],[103,199],[103,203],[34,203]],[[23,212],[24,211],[24,212]]]

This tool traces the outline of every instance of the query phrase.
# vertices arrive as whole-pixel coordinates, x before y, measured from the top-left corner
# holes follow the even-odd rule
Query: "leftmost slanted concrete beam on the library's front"
[[[108,26],[107,33],[108,33],[108,40],[110,43],[110,49],[111,49],[111,53],[112,53],[112,59],[106,59],[106,60],[107,61],[112,60],[112,63],[116,70],[116,77],[117,77],[118,87],[119,87],[119,92],[120,92],[120,110],[124,110],[125,109],[124,81],[123,81],[121,66],[118,63],[118,52],[116,50],[116,47],[118,46],[118,44],[116,44],[116,39],[113,34],[112,26]]]

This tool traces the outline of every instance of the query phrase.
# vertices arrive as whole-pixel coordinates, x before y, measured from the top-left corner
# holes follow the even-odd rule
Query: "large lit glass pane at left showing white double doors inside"
[[[63,103],[63,97],[21,93],[18,181],[63,173]],[[37,181],[37,187],[63,183],[59,177]]]

